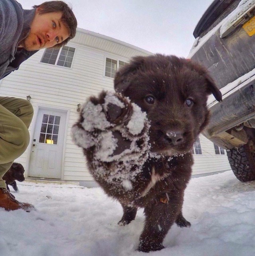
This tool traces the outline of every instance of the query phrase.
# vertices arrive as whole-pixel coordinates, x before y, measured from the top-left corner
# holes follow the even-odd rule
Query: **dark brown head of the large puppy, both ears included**
[[[114,80],[150,120],[151,151],[186,153],[208,123],[207,97],[221,93],[200,65],[175,56],[136,57]]]

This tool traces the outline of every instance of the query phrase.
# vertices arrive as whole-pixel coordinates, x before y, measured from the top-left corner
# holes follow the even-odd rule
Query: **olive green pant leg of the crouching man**
[[[28,146],[32,117],[29,101],[0,97],[0,187],[5,187],[3,175]]]

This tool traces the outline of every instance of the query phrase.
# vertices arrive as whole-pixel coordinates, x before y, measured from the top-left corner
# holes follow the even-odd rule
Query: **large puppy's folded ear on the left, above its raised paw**
[[[117,71],[114,78],[114,89],[116,92],[124,93],[126,89],[129,87],[132,77],[139,67],[141,67],[145,62],[143,56],[137,56],[132,58],[131,63],[122,67],[119,71]]]

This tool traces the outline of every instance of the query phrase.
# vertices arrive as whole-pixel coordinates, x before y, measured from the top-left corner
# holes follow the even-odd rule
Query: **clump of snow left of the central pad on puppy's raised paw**
[[[112,161],[110,156],[113,154],[114,149],[116,149],[118,140],[114,138],[112,131],[100,134],[98,140],[100,148],[95,153],[95,158],[103,162]]]

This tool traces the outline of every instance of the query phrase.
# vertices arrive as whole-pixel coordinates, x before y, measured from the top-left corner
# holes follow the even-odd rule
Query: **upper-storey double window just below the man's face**
[[[74,54],[75,48],[69,46],[63,46],[61,50],[47,48],[41,62],[62,67],[71,67]]]

